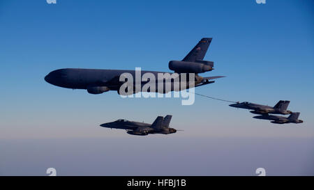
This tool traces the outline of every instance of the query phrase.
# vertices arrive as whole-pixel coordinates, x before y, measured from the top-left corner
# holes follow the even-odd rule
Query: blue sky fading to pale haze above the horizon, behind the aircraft
[[[311,142],[303,156],[314,158],[313,10],[313,1],[289,0],[0,1],[0,139],[8,145],[59,138],[127,138],[132,143],[130,139],[138,138],[99,125],[119,118],[153,122],[156,116],[172,114],[170,125],[184,129],[171,134],[173,139],[246,138],[249,143],[252,138],[280,138],[289,145],[295,138],[310,139],[303,141]],[[114,91],[91,95],[43,79],[59,68],[170,71],[168,62],[184,58],[204,37],[213,38],[204,59],[214,61],[215,70],[202,76],[227,77],[196,88],[196,93],[270,106],[290,100],[290,110],[301,112],[304,123],[275,125],[204,97],[182,106],[179,98],[122,99]],[[154,139],[157,143],[165,137]],[[8,151],[9,146],[2,148]],[[8,153],[0,166],[13,164],[6,162],[13,157],[18,154]],[[312,165],[305,168],[313,169],[313,162],[308,163]],[[19,174],[14,168],[0,172]],[[121,171],[125,173],[132,171]]]

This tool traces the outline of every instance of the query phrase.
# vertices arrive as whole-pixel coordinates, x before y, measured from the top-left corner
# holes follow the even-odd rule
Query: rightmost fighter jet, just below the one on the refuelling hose
[[[261,119],[261,120],[272,120],[272,123],[276,123],[276,124],[284,124],[284,123],[301,123],[303,122],[303,120],[299,120],[299,112],[294,112],[291,113],[291,115],[287,118],[283,117],[283,116],[274,116],[274,115],[268,115],[268,114],[264,114],[262,116],[254,116],[253,118],[256,119]]]

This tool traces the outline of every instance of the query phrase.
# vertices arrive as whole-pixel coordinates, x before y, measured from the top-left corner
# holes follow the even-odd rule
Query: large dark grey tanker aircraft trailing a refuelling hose
[[[181,81],[181,75],[183,73],[194,73],[195,74],[195,85],[194,86],[203,86],[207,84],[214,83],[213,79],[218,79],[223,76],[216,77],[201,77],[198,74],[202,72],[208,72],[214,70],[214,62],[212,61],[203,61],[203,58],[207,52],[207,49],[211,43],[212,38],[202,38],[200,42],[188,53],[188,55],[182,61],[170,61],[169,68],[179,75],[179,80]],[[72,88],[72,89],[86,89],[88,93],[91,94],[100,94],[105,93],[109,90],[117,90],[122,86],[123,82],[120,81],[121,74],[129,73],[135,79],[135,70],[99,70],[99,69],[77,69],[77,68],[66,68],[54,70],[47,74],[45,81],[48,83],[60,86],[63,88]],[[165,85],[165,80],[158,80],[158,74],[172,74],[170,72],[156,72],[156,71],[141,71],[140,74],[143,76],[145,73],[151,73],[156,78],[154,84],[156,84],[155,89],[149,88],[147,92],[156,92],[156,93],[168,93],[169,90],[158,90],[159,83]],[[140,81],[140,90],[142,86],[147,84],[149,81]],[[170,79],[171,89],[174,89],[174,80]],[[161,86],[163,86],[161,85]],[[135,86],[135,83],[134,83]],[[179,88],[179,90],[184,90],[190,88],[188,83],[184,84],[184,88]],[[178,89],[177,89],[178,90]],[[131,90],[130,90],[131,91]],[[138,88],[133,88],[133,92],[137,93]],[[129,94],[128,94],[129,95]]]

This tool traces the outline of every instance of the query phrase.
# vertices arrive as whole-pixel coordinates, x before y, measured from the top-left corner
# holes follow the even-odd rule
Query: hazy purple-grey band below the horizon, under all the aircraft
[[[107,130],[109,131],[109,130]],[[0,175],[314,175],[313,138],[0,140]]]

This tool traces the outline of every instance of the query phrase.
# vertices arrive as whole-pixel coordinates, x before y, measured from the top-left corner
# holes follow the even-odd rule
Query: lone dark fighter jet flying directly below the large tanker
[[[128,134],[133,135],[172,134],[177,132],[177,129],[169,127],[171,118],[171,115],[167,115],[165,118],[158,116],[152,124],[119,119],[114,122],[103,123],[100,126],[114,129],[126,129]]]

